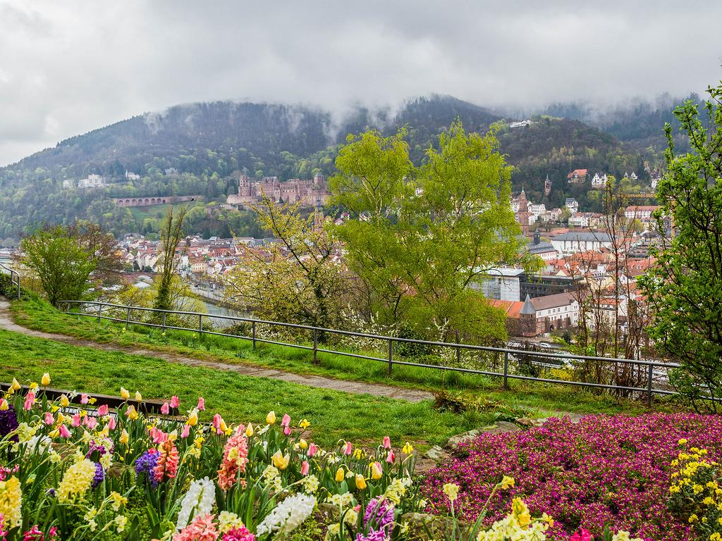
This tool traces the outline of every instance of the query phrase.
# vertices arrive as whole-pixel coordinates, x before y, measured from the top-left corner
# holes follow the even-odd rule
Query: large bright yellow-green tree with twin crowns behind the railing
[[[535,266],[510,208],[511,168],[494,133],[467,135],[458,120],[420,167],[405,136],[350,137],[329,180],[333,202],[354,217],[338,234],[368,312],[439,338],[503,339],[505,316],[478,286],[500,265]]]

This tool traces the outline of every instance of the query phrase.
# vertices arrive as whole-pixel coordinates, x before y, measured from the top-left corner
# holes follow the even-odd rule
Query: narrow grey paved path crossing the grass
[[[205,361],[203,359],[194,359],[178,355],[177,353],[163,353],[152,349],[131,348],[126,346],[117,346],[115,344],[104,344],[94,342],[92,340],[82,340],[66,335],[58,335],[53,333],[43,333],[39,330],[32,330],[21,325],[17,325],[12,320],[10,313],[10,304],[5,300],[0,300],[0,329],[11,330],[15,333],[22,333],[35,338],[45,338],[47,340],[55,340],[71,344],[72,346],[82,346],[84,348],[96,348],[104,351],[121,351],[132,355],[142,355],[148,357],[157,357],[170,363],[186,364],[188,366],[205,366],[206,368],[214,368],[220,370],[232,370],[245,376],[267,377],[271,379],[280,379],[283,382],[297,383],[308,387],[317,387],[319,389],[331,389],[336,391],[351,392],[357,395],[373,395],[388,398],[397,398],[399,400],[408,400],[409,402],[420,402],[421,400],[430,400],[433,395],[430,392],[404,389],[403,387],[392,387],[391,385],[383,385],[378,383],[348,382],[343,379],[332,379],[322,376],[310,376],[301,374],[292,374],[281,370],[261,368],[252,364],[229,364],[217,361]]]

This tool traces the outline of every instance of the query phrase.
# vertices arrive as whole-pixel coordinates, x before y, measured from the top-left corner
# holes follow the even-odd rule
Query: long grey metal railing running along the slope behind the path
[[[565,385],[577,385],[579,387],[591,387],[596,389],[604,389],[604,390],[617,390],[617,391],[627,391],[627,392],[640,392],[643,393],[643,395],[646,396],[647,404],[651,405],[652,403],[652,395],[653,394],[659,394],[659,395],[677,395],[677,392],[674,392],[673,390],[669,390],[669,388],[662,389],[659,387],[654,386],[654,376],[655,376],[655,369],[671,369],[671,368],[678,368],[679,364],[676,363],[667,363],[662,361],[636,361],[633,359],[619,359],[616,357],[594,357],[594,356],[583,356],[583,355],[574,355],[571,353],[552,353],[547,351],[530,351],[530,350],[523,350],[523,349],[513,349],[513,348],[495,348],[491,346],[477,346],[475,344],[465,344],[465,343],[454,343],[454,342],[435,342],[432,340],[414,340],[412,338],[399,338],[394,336],[384,336],[384,335],[374,335],[374,334],[368,334],[368,333],[355,333],[353,331],[349,330],[339,330],[339,329],[327,329],[325,327],[314,327],[312,325],[299,325],[297,323],[285,323],[285,322],[279,322],[279,321],[269,321],[269,320],[258,320],[252,317],[241,317],[241,316],[230,316],[230,315],[209,315],[209,314],[202,314],[200,312],[182,312],[182,311],[174,311],[174,310],[160,310],[155,308],[144,308],[144,307],[131,307],[124,304],[113,304],[109,302],[96,302],[96,301],[61,301],[61,306],[63,304],[66,305],[66,313],[69,314],[76,314],[78,316],[89,316],[89,317],[95,317],[97,321],[101,320],[110,320],[114,322],[120,322],[125,324],[126,329],[130,327],[130,325],[142,325],[145,327],[156,327],[160,329],[168,329],[168,330],[186,330],[190,331],[192,333],[199,333],[199,337],[202,335],[214,335],[214,336],[223,336],[227,338],[238,338],[240,340],[249,340],[251,341],[253,348],[256,348],[257,343],[267,343],[267,344],[274,344],[277,346],[288,346],[291,348],[299,348],[304,349],[308,351],[313,352],[313,361],[316,363],[317,361],[317,355],[318,353],[330,353],[332,355],[340,355],[340,356],[347,356],[352,357],[353,359],[364,359],[367,361],[380,361],[385,364],[388,364],[388,372],[391,374],[391,371],[393,369],[394,365],[399,366],[416,366],[419,368],[426,368],[426,369],[436,369],[436,370],[448,370],[448,371],[456,371],[461,372],[464,374],[479,374],[483,376],[490,376],[490,377],[499,377],[503,379],[503,384],[505,389],[508,389],[508,380],[509,379],[520,379],[523,381],[534,381],[534,382],[544,382],[544,383],[557,383],[557,384],[565,384]],[[79,307],[78,312],[71,312],[70,307],[71,305],[77,305]],[[87,312],[87,307],[92,308],[92,312]],[[108,315],[113,314],[113,312],[116,312],[116,315],[118,312],[121,314],[124,312],[125,317],[116,317],[116,315]],[[157,314],[158,317],[155,320],[156,322],[150,322],[150,321],[139,321],[131,319],[131,312],[149,312],[151,314]],[[178,315],[183,316],[187,318],[198,318],[198,326],[197,327],[182,327],[178,325],[170,325],[170,322],[168,322],[168,316],[171,315]],[[208,320],[230,320],[232,322],[245,322],[251,324],[251,335],[238,335],[238,334],[230,334],[230,333],[223,333],[218,330],[209,330],[204,328],[204,318],[206,319],[206,322]],[[257,327],[258,325],[270,325],[270,326],[278,326],[278,327],[286,327],[286,328],[292,328],[292,329],[298,329],[298,330],[308,330],[311,333],[312,342],[311,345],[306,344],[300,344],[300,343],[289,343],[289,342],[282,342],[279,340],[270,340],[268,338],[261,338],[257,334]],[[321,344],[319,343],[319,335],[342,335],[342,336],[352,336],[357,338],[367,338],[371,340],[379,340],[382,343],[385,343],[384,349],[388,351],[388,356],[382,357],[375,357],[370,355],[362,355],[360,353],[352,353],[350,351],[342,351],[337,349],[328,349],[321,347]],[[496,353],[498,356],[503,355],[503,363],[504,363],[504,369],[503,372],[499,371],[492,371],[492,370],[477,370],[477,369],[470,369],[470,368],[464,368],[461,366],[446,366],[443,364],[425,364],[425,363],[419,363],[419,362],[412,362],[412,361],[404,361],[399,359],[394,359],[393,357],[393,346],[394,344],[399,343],[407,343],[407,344],[417,344],[419,346],[427,346],[427,347],[438,347],[438,348],[451,348],[456,351],[456,359],[459,361],[461,359],[461,351],[486,351],[491,353]],[[578,381],[570,381],[568,379],[554,379],[554,378],[543,378],[543,377],[532,377],[524,374],[515,374],[510,372],[510,361],[517,361],[518,359],[529,359],[529,358],[540,358],[543,360],[554,360],[557,359],[559,361],[562,361],[561,364],[556,363],[550,363],[546,366],[556,366],[559,368],[563,368],[566,363],[570,361],[595,361],[595,362],[601,362],[609,364],[610,367],[614,365],[619,364],[627,364],[627,365],[633,365],[638,366],[640,369],[643,369],[643,371],[646,372],[645,374],[645,387],[631,387],[628,385],[619,385],[619,384],[604,384],[604,383],[593,383],[593,382],[578,382]],[[541,364],[544,366],[544,363],[542,361],[533,361],[536,362],[536,364]]]

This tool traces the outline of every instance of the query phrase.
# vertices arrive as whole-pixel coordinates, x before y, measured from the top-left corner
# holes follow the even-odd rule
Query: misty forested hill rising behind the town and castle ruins
[[[621,175],[643,174],[638,151],[625,149],[614,136],[578,120],[539,116],[534,123],[510,128],[491,110],[453,97],[409,100],[392,113],[389,109],[357,107],[340,119],[321,108],[212,102],[170,107],[147,113],[61,141],[0,168],[0,242],[12,243],[23,231],[41,223],[68,223],[92,219],[116,234],[157,231],[160,210],[116,208],[113,197],[201,195],[206,214],[196,213],[199,232],[254,234],[238,213],[211,208],[235,193],[237,175],[275,175],[281,180],[310,178],[334,171],[338,144],[348,133],[378,128],[409,132],[414,161],[455,118],[467,131],[484,133],[492,123],[503,126],[501,151],[517,166],[516,190],[542,197],[544,178],[554,182],[552,198],[559,205],[567,191],[567,172],[577,168]],[[127,171],[140,175],[126,180]],[[103,175],[108,186],[97,189],[64,188],[64,180]],[[583,194],[573,195],[584,198]],[[557,201],[558,200],[558,201]],[[230,218],[228,215],[232,215]]]

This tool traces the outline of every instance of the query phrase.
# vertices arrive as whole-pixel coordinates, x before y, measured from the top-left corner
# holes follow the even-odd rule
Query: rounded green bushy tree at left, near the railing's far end
[[[117,278],[121,259],[113,235],[97,224],[38,229],[20,242],[19,262],[38,277],[51,304],[93,296]]]

